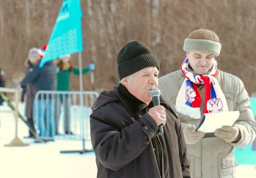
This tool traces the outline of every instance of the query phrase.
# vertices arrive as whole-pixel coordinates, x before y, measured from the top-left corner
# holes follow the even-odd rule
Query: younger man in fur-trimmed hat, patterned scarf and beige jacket
[[[159,78],[159,89],[175,104],[188,148],[191,177],[235,177],[234,147],[255,138],[256,122],[243,82],[217,68],[221,44],[208,29],[191,32],[184,41],[186,58],[178,71]],[[209,135],[196,131],[204,113],[240,111],[233,126]]]

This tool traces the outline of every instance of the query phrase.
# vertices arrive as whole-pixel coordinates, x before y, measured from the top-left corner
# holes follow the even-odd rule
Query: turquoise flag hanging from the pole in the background
[[[64,0],[40,67],[60,56],[83,50],[81,18],[80,0]]]

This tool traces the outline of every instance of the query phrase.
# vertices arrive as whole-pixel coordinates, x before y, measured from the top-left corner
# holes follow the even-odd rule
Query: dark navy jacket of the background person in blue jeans
[[[29,72],[21,82],[21,87],[32,83],[37,91],[56,90],[56,66],[52,61],[46,62],[43,67],[39,67],[40,62],[29,68]]]

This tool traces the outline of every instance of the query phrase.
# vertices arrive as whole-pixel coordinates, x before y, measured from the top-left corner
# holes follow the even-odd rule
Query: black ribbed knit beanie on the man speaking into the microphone
[[[155,66],[159,70],[159,62],[152,51],[139,41],[128,42],[117,55],[117,75],[119,80],[146,67]]]

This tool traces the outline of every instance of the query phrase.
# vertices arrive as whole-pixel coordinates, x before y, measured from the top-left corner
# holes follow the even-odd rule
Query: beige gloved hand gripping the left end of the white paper
[[[194,125],[186,125],[183,128],[183,135],[186,141],[186,144],[193,145],[204,137],[204,132],[195,131]]]

